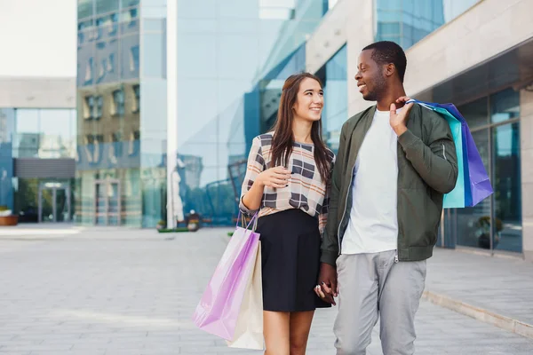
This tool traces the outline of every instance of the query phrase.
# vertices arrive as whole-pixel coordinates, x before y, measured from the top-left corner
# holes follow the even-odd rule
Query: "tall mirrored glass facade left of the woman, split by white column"
[[[76,220],[154,226],[236,217],[251,138],[327,0],[178,0],[178,154],[167,157],[165,0],[78,0]],[[177,169],[167,181],[167,159]],[[171,201],[167,201],[167,186]]]

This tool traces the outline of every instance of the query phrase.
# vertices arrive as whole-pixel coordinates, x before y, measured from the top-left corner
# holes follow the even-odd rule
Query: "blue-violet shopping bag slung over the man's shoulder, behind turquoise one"
[[[489,197],[494,190],[490,185],[489,174],[483,166],[480,153],[475,146],[472,134],[468,128],[465,117],[457,110],[457,107],[453,104],[437,104],[433,102],[424,102],[413,100],[415,102],[421,102],[423,104],[441,107],[452,114],[459,122],[461,122],[461,131],[463,134],[463,158],[465,168],[465,207],[473,207]]]

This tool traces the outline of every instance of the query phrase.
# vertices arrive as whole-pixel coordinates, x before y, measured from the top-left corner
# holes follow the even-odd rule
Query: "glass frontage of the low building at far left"
[[[75,157],[76,110],[0,108],[0,205],[11,209],[20,222],[71,220],[74,211],[68,204],[75,200],[74,179],[55,177],[53,171],[47,177],[32,177],[46,174],[32,170],[17,176],[14,162],[30,167],[34,159],[64,164]],[[63,165],[57,167],[61,170]]]

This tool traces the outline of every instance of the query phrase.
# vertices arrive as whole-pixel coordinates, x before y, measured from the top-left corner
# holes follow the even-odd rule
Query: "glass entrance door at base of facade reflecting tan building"
[[[120,225],[121,200],[120,181],[115,179],[97,180],[94,183],[95,225]]]

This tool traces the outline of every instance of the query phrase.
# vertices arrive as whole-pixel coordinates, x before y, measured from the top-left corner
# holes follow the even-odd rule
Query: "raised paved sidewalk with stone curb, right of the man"
[[[533,263],[435,248],[425,298],[533,338]]]

